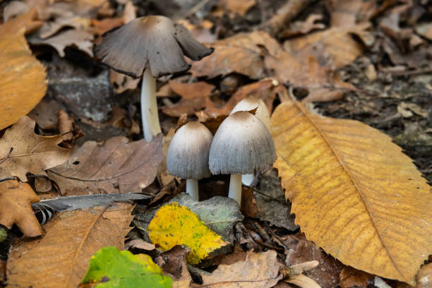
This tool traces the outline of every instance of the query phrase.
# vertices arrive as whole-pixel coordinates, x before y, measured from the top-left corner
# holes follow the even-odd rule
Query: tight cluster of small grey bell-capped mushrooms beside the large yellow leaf
[[[258,103],[251,110],[260,105],[255,99],[246,101]],[[267,107],[264,108],[268,114]],[[228,196],[241,205],[241,175],[266,169],[275,160],[275,143],[268,126],[247,111],[233,111],[214,137],[199,122],[181,126],[168,148],[167,169],[170,174],[187,179],[186,193],[195,200],[198,200],[197,180],[210,176],[210,172],[231,174]]]

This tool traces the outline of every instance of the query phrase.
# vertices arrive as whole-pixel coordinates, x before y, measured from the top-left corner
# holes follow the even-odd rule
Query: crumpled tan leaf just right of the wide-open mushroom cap
[[[212,54],[191,62],[193,76],[215,78],[236,72],[251,79],[264,78],[266,73],[261,47],[265,47],[270,54],[280,49],[276,40],[261,31],[239,33],[216,41],[212,47],[215,48]]]

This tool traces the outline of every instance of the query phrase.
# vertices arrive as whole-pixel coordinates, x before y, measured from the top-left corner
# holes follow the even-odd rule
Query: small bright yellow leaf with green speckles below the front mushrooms
[[[226,244],[191,210],[179,203],[162,206],[148,225],[148,236],[163,251],[176,245],[191,248],[188,263],[198,264],[208,253]]]

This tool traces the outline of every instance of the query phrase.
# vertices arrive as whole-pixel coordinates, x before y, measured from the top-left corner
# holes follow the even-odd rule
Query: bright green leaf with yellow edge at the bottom
[[[163,275],[150,256],[133,255],[113,246],[101,248],[90,259],[90,266],[80,284],[92,283],[99,288],[172,287],[172,279]]]

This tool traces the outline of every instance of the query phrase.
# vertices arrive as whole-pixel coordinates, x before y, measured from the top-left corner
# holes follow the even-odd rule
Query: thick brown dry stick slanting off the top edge
[[[285,23],[299,15],[311,2],[312,0],[288,0],[287,3],[277,10],[275,16],[265,23],[265,30],[268,30],[272,36],[276,36]]]

